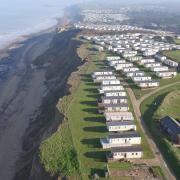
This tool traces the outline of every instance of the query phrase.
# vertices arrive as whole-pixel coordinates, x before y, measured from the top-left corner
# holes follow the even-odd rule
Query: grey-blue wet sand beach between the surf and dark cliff
[[[22,139],[30,120],[42,104],[45,72],[33,70],[31,63],[42,54],[54,33],[40,35],[17,49],[16,65],[0,87],[0,179],[11,180],[22,152]],[[14,63],[14,62],[13,62]]]

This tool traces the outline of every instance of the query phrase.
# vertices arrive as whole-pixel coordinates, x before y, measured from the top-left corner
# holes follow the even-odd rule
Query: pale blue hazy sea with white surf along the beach
[[[0,49],[24,35],[53,27],[79,0],[0,0]]]

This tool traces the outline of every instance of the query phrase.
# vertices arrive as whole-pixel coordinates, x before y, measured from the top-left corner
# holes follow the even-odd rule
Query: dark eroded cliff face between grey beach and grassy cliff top
[[[35,69],[45,70],[46,92],[36,118],[31,120],[23,138],[23,155],[17,163],[15,179],[56,179],[51,178],[39,163],[38,148],[61,124],[63,115],[56,105],[69,93],[68,77],[83,63],[77,54],[80,46],[74,39],[77,34],[77,30],[56,33],[49,49],[33,63]]]

